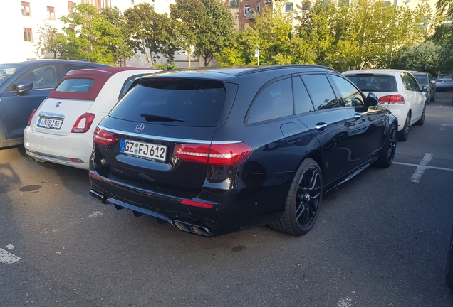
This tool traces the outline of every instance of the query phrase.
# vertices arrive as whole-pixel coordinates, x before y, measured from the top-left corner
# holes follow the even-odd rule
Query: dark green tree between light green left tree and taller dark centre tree
[[[145,55],[145,59],[154,68],[160,55],[172,62],[175,52],[175,24],[167,14],[156,13],[150,4],[142,3],[125,11],[126,26],[129,29],[130,45],[135,52]],[[149,54],[147,53],[149,50]]]

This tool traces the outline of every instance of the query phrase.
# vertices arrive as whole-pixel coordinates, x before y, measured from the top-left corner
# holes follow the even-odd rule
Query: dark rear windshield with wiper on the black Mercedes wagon
[[[225,103],[223,82],[199,79],[140,80],[110,117],[177,126],[217,126]]]

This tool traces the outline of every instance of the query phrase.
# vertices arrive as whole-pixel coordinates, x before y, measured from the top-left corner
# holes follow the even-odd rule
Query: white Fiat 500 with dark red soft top
[[[88,169],[93,131],[129,90],[135,78],[157,72],[146,68],[72,70],[63,77],[24,129],[28,156]]]

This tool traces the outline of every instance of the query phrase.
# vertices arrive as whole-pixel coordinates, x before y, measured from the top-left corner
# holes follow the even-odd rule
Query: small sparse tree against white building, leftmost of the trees
[[[36,55],[41,58],[57,58],[57,55],[63,50],[66,39],[62,33],[57,33],[47,21],[38,29],[38,39],[36,40]]]

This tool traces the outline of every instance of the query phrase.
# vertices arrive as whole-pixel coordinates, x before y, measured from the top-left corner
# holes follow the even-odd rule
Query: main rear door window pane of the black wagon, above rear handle
[[[303,75],[302,80],[316,109],[339,107],[326,75]]]

